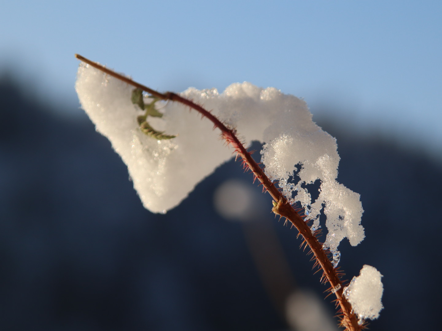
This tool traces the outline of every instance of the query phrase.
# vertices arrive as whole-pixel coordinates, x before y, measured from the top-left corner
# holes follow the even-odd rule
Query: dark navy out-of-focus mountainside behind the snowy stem
[[[0,80],[0,99],[4,330],[288,328],[256,271],[244,225],[213,207],[213,192],[226,179],[252,185],[240,164],[221,166],[179,207],[152,214],[86,115],[57,116],[8,76]],[[365,210],[366,239],[357,247],[341,243],[340,266],[348,279],[363,264],[384,275],[385,309],[370,328],[436,329],[440,164],[378,135],[350,136],[319,124],[338,139],[338,181],[361,194]],[[294,286],[322,295],[296,230],[274,219],[264,197],[263,218],[277,234]]]

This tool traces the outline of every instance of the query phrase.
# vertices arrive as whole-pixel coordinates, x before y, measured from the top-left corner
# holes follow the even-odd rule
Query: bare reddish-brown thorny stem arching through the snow
[[[92,67],[105,72],[108,75],[111,75],[117,79],[122,80],[123,82],[126,82],[134,87],[144,90],[145,92],[151,94],[152,96],[155,96],[156,98],[162,100],[171,100],[182,103],[183,105],[187,105],[188,107],[200,113],[202,117],[207,117],[210,121],[212,121],[212,123],[214,124],[214,128],[216,127],[221,130],[223,138],[235,148],[236,152],[243,159],[244,165],[247,165],[247,167],[252,171],[255,179],[258,179],[260,183],[263,185],[263,191],[267,191],[270,193],[270,195],[275,201],[275,206],[272,209],[272,211],[275,214],[278,214],[281,217],[288,219],[293,224],[293,226],[296,227],[296,229],[299,231],[301,236],[304,238],[302,244],[305,243],[306,246],[307,245],[309,246],[310,252],[312,252],[314,255],[312,257],[312,260],[313,259],[316,260],[314,267],[319,266],[323,271],[321,281],[322,282],[328,281],[331,285],[328,291],[330,292],[330,294],[335,293],[336,306],[338,305],[340,306],[341,325],[349,331],[359,331],[362,329],[363,326],[358,324],[358,317],[352,311],[350,302],[343,295],[343,283],[339,278],[340,275],[343,275],[342,272],[339,272],[337,269],[333,267],[333,265],[331,264],[330,260],[327,257],[326,252],[322,248],[322,244],[312,233],[311,229],[304,221],[304,219],[301,217],[301,215],[298,214],[298,212],[293,208],[293,206],[287,201],[286,197],[278,190],[278,188],[275,187],[275,185],[266,176],[263,169],[251,157],[251,153],[249,153],[246,150],[244,144],[236,136],[235,129],[228,128],[225,124],[223,124],[220,120],[218,120],[216,116],[212,115],[209,111],[202,108],[202,106],[197,105],[191,100],[183,98],[178,94],[172,92],[166,92],[165,94],[160,93],[156,90],[150,89],[149,87],[145,87],[140,83],[134,82],[132,79],[120,75],[115,71],[107,69],[100,64],[88,60],[87,58],[79,54],[75,54],[75,57],[91,65]]]

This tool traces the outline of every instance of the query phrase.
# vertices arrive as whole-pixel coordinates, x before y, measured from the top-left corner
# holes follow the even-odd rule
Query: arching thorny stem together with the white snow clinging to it
[[[312,121],[305,102],[274,88],[262,90],[249,83],[232,84],[222,94],[216,89],[163,94],[80,55],[76,57],[86,63],[80,65],[76,83],[82,107],[94,121],[97,131],[110,139],[128,165],[134,187],[146,208],[166,212],[175,207],[198,181],[231,158],[231,152],[213,143],[212,138],[216,138],[213,130],[184,111],[194,109],[221,131],[221,137],[240,156],[244,167],[251,170],[254,180],[272,196],[274,213],[297,228],[303,244],[310,249],[315,267],[322,270],[321,281],[328,282],[328,291],[336,296],[341,324],[347,330],[360,330],[364,319],[377,317],[382,307],[380,297],[379,305],[370,306],[375,307],[372,310],[380,307],[377,315],[373,311],[367,315],[354,309],[361,307],[359,302],[364,300],[351,295],[361,292],[354,287],[357,282],[353,282],[350,289],[345,288],[344,295],[342,273],[336,267],[340,256],[337,247],[344,237],[352,245],[364,238],[360,225],[362,205],[357,193],[336,181],[339,156],[335,139]],[[149,100],[149,105],[154,103],[152,98],[165,101],[159,105],[164,116],[149,117],[149,123],[162,130],[158,131],[160,133],[155,130],[153,135],[149,135],[151,132],[145,134],[146,127],[144,131],[140,127],[147,123],[147,113],[142,112],[143,100],[131,102],[133,87],[148,94],[145,99]],[[152,127],[148,125],[150,130]],[[168,135],[167,140],[160,138],[163,130],[174,135]],[[244,138],[240,138],[238,132]],[[265,170],[251,157],[245,147],[246,139],[266,143],[261,152]],[[295,165],[301,165],[297,183],[290,181],[296,173]],[[310,192],[301,185],[318,179],[320,195],[312,201]],[[279,188],[274,185],[276,181]],[[303,207],[302,215],[293,207],[297,201]],[[316,237],[321,213],[327,216],[328,233],[324,244]],[[313,221],[311,227],[308,221]],[[379,281],[371,286],[382,286],[378,278]],[[368,308],[364,306],[364,309]]]

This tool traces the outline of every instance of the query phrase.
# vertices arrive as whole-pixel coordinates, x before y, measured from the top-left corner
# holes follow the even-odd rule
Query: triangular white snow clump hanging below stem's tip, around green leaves
[[[76,91],[82,108],[126,163],[145,208],[165,213],[218,165],[229,160],[232,150],[223,146],[219,132],[208,120],[201,120],[175,102],[157,102],[164,116],[147,120],[156,130],[178,136],[156,140],[145,135],[137,122],[143,112],[132,104],[132,90],[119,79],[80,64]],[[203,94],[199,93],[199,97]]]

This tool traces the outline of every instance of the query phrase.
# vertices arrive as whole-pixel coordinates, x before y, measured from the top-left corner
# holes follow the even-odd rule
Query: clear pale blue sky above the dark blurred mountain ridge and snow
[[[55,103],[75,105],[80,53],[163,91],[277,87],[318,117],[442,155],[442,1],[2,0],[0,8],[0,72]]]

